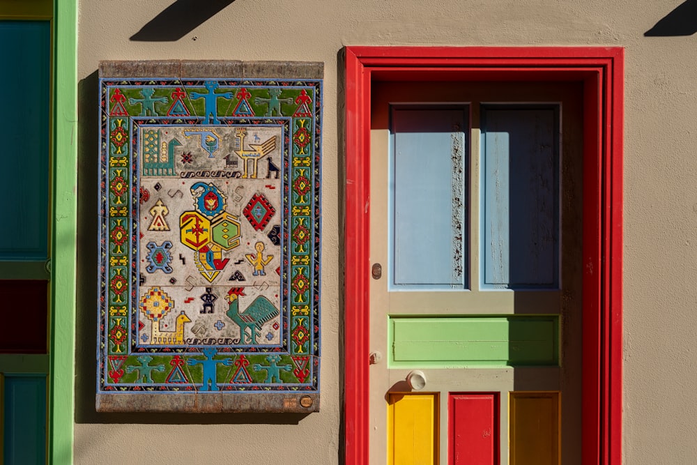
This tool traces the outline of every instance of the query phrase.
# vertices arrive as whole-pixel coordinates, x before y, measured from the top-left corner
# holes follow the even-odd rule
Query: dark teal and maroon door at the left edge
[[[0,463],[24,465],[47,462],[52,2],[13,3],[0,1]]]

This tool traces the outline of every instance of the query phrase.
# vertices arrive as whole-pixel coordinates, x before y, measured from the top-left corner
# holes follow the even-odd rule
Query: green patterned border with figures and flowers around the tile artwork
[[[100,79],[100,174],[99,174],[99,319],[98,376],[99,394],[121,392],[152,394],[192,392],[202,383],[201,365],[187,367],[186,383],[169,382],[167,374],[182,366],[188,358],[201,360],[199,347],[171,350],[134,348],[130,338],[137,325],[139,273],[137,257],[139,218],[139,164],[137,128],[140,125],[197,125],[204,123],[202,102],[191,92],[206,92],[204,84],[215,81],[218,92],[240,90],[249,93],[247,105],[254,115],[234,116],[229,108],[218,107],[217,118],[223,125],[279,125],[284,130],[282,169],[282,344],[273,348],[219,347],[213,360],[233,358],[237,367],[266,365],[268,356],[280,356],[279,365],[293,369],[281,373],[281,380],[265,383],[263,370],[248,370],[248,382],[231,383],[229,370],[219,369],[217,386],[231,394],[289,390],[319,392],[320,360],[320,173],[321,173],[321,80],[319,79],[176,79],[176,78],[102,78]],[[156,115],[141,116],[139,107],[129,98],[141,96],[141,89],[153,88],[153,98],[166,97],[167,105],[155,105]],[[281,105],[281,114],[256,116],[264,107],[254,104],[254,96],[267,96],[268,89],[280,88],[293,105]],[[167,116],[176,89],[184,89],[182,98],[192,116]],[[243,90],[246,89],[246,92]],[[114,99],[114,95],[117,98]],[[123,97],[122,97],[123,96]],[[125,98],[124,98],[125,97]],[[120,103],[116,107],[117,103]],[[150,353],[150,352],[153,353]],[[139,383],[135,369],[138,356],[152,356],[150,366],[164,365],[164,372],[153,372],[153,383]],[[171,368],[170,368],[171,367]],[[129,373],[130,372],[130,373]]]

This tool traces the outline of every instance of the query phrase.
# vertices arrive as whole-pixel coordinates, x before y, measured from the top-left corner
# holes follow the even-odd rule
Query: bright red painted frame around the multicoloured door
[[[621,47],[346,47],[344,435],[368,463],[370,92],[376,80],[583,82],[583,464],[622,461]]]

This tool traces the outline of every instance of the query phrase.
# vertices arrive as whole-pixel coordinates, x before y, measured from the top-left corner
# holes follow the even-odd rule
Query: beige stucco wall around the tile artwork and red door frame
[[[697,38],[643,35],[681,0],[236,0],[180,40],[129,40],[171,3],[79,4],[79,273],[93,275],[96,263],[91,218],[98,61],[323,61],[321,412],[305,417],[96,414],[95,288],[84,286],[77,328],[76,464],[339,461],[337,102],[343,96],[337,89],[337,56],[344,45],[626,47],[624,463],[697,463]]]

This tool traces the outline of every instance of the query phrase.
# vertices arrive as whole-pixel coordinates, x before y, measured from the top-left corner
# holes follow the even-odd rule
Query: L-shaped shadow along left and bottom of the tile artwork
[[[227,1],[227,0],[226,0]],[[229,1],[227,3],[230,3]],[[77,318],[75,328],[75,422],[162,425],[297,425],[309,413],[99,413],[97,388],[99,77],[95,71],[77,88]],[[83,439],[84,441],[84,439]]]

